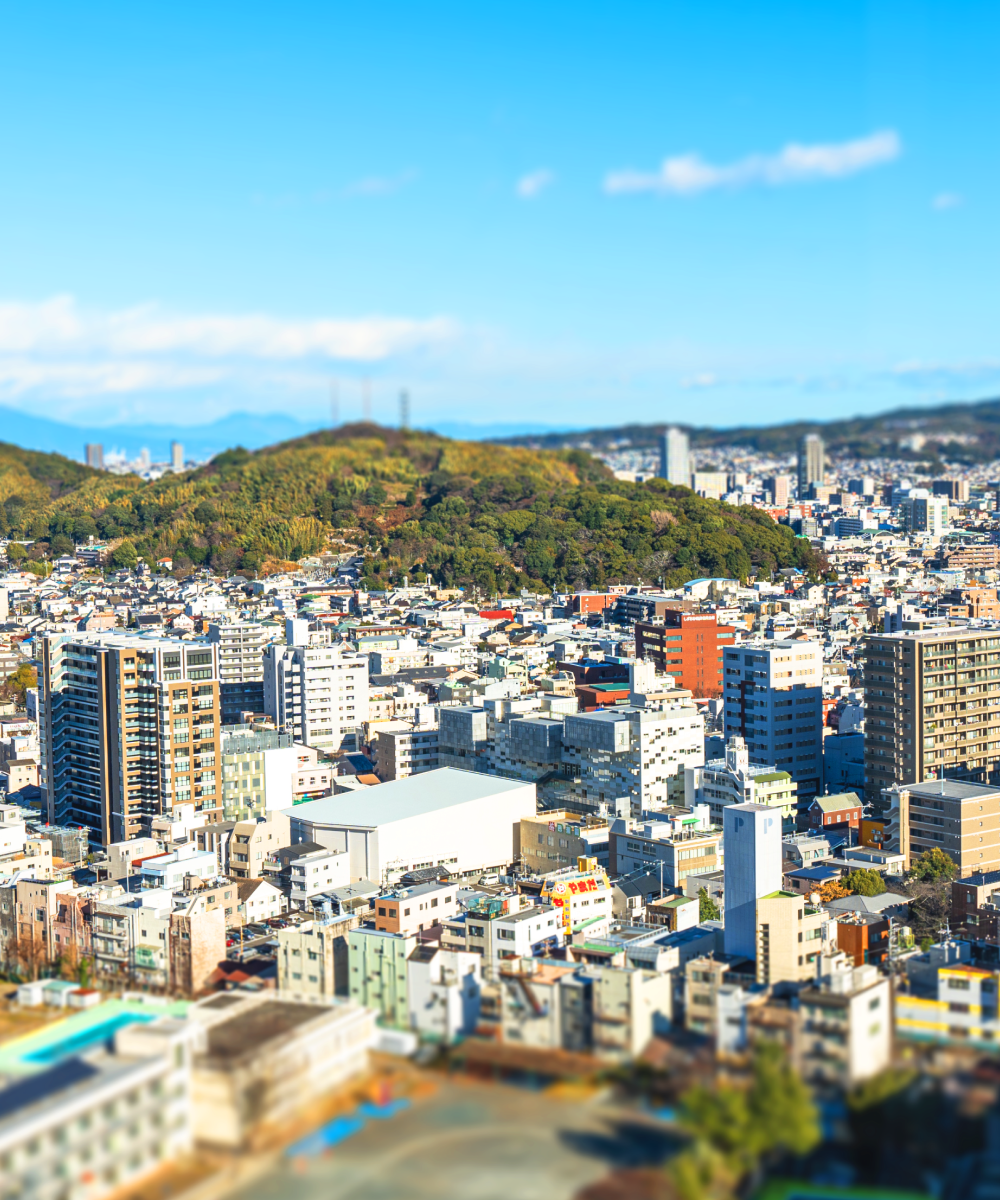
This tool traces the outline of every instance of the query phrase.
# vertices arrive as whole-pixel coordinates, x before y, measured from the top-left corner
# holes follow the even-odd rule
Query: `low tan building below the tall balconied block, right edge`
[[[959,877],[1000,870],[1000,788],[957,779],[928,779],[882,793],[888,810],[887,848],[911,858],[942,850]]]

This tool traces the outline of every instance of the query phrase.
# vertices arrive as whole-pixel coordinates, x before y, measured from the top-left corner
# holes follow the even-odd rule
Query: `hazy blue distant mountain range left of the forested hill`
[[[14,408],[0,408],[0,440],[25,450],[61,454],[80,461],[84,445],[98,442],[106,450],[124,450],[130,458],[143,448],[154,462],[167,462],[170,442],[180,442],[187,458],[211,458],[221,450],[241,445],[247,450],[301,437],[317,428],[315,421],[299,421],[283,413],[230,413],[209,425],[71,425],[53,421]]]

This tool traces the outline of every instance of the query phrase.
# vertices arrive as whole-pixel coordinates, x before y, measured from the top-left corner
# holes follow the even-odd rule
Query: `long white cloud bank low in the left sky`
[[[264,313],[118,312],[80,308],[73,296],[0,302],[0,355],[193,355],[202,359],[339,359],[375,362],[448,341],[454,324],[397,317],[307,318]]]

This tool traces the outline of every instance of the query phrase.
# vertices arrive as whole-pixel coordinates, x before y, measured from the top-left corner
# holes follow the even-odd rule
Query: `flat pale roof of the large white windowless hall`
[[[439,767],[407,779],[395,779],[363,792],[323,796],[294,808],[283,809],[289,817],[325,826],[354,826],[375,829],[407,817],[424,816],[472,800],[484,800],[504,792],[533,785],[516,779],[497,779],[475,770]],[[528,814],[526,814],[527,816]]]

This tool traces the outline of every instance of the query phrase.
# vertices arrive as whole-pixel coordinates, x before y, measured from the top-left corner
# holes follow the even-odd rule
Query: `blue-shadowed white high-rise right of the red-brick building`
[[[744,643],[724,652],[725,737],[741,737],[750,762],[786,770],[800,800],[822,779],[822,647]]]

